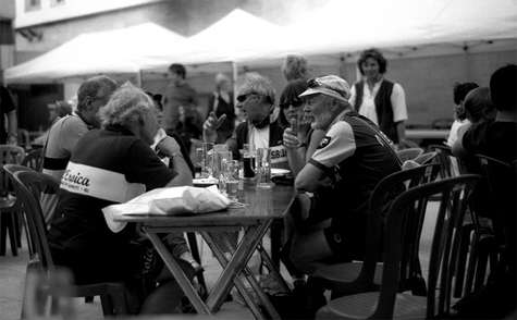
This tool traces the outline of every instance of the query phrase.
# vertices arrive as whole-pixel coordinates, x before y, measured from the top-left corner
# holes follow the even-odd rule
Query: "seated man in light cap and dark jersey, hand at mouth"
[[[321,259],[362,259],[368,199],[401,163],[379,127],[353,111],[346,81],[328,75],[308,84],[300,95],[305,111],[325,135],[296,176],[299,194],[288,214],[294,230],[286,251],[294,267],[310,274]],[[313,227],[328,218],[329,227]]]

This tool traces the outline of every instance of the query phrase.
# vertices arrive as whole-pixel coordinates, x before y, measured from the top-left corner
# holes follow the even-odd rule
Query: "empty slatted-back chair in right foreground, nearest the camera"
[[[451,316],[454,256],[459,245],[457,232],[463,225],[468,198],[479,179],[479,175],[471,174],[441,180],[396,197],[384,227],[381,291],[331,300],[318,311],[317,319],[433,319]],[[411,236],[410,225],[420,218],[414,211],[436,194],[440,195],[440,207],[431,243],[427,297],[398,293],[407,236]]]

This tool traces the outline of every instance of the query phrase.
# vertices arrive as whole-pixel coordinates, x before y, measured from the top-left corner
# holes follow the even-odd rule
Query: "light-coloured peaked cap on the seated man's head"
[[[350,98],[350,86],[345,79],[336,75],[325,75],[311,78],[308,81],[308,85],[309,88],[298,97],[321,94],[345,102],[348,102],[348,99]]]

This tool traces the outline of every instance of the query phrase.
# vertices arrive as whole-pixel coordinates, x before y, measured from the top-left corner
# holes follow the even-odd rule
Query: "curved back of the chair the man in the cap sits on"
[[[367,227],[367,244],[365,263],[359,274],[360,281],[369,283],[373,282],[376,272],[376,262],[379,260],[379,243],[382,238],[383,222],[387,209],[394,198],[405,190],[413,189],[417,186],[427,184],[436,179],[440,171],[439,164],[426,164],[408,170],[392,173],[382,179],[373,189],[369,206],[368,227]],[[411,233],[408,238],[413,237],[405,244],[403,250],[403,268],[401,268],[402,286],[405,288],[411,287],[416,279],[420,278],[420,262],[418,260],[419,235],[423,224],[423,216],[426,204],[415,210],[415,219],[411,225]],[[424,288],[423,288],[424,290]]]

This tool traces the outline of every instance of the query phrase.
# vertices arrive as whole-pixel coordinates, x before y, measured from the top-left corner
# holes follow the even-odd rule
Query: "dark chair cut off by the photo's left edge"
[[[21,163],[25,156],[22,147],[11,145],[0,145],[0,256],[5,255],[7,237],[11,243],[11,253],[17,256],[17,248],[21,245],[20,237],[20,208],[16,206],[16,198],[12,194],[10,180],[3,170],[4,164]]]

